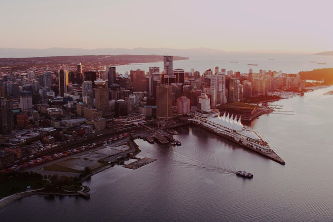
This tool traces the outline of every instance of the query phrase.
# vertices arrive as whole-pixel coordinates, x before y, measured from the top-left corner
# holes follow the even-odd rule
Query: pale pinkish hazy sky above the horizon
[[[333,50],[333,0],[0,0],[4,48]]]

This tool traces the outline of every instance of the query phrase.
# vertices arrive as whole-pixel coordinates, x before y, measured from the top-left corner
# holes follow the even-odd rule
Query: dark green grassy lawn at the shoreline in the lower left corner
[[[30,185],[32,190],[43,188],[43,185],[48,183],[45,180],[37,179],[20,179],[9,178],[0,181],[0,199],[10,196],[14,193],[26,191],[26,187]]]

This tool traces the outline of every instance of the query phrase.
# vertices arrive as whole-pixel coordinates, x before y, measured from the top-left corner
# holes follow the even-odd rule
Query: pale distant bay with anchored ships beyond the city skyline
[[[185,71],[191,71],[192,68],[198,70],[200,73],[207,69],[215,70],[218,66],[220,71],[222,68],[233,71],[239,71],[241,73],[248,73],[249,69],[253,72],[259,72],[263,70],[275,70],[283,71],[284,73],[298,73],[300,71],[309,71],[320,68],[333,67],[333,56],[319,56],[308,54],[249,54],[249,53],[228,53],[219,57],[191,57],[189,60],[174,61],[174,69],[180,68]],[[274,59],[274,60],[269,60]],[[310,61],[326,62],[327,65],[320,65],[317,63],[310,63]],[[238,62],[230,63],[230,62]],[[247,64],[258,64],[258,66],[248,66]],[[116,70],[119,73],[129,73],[129,70],[141,69],[146,72],[149,71],[149,67],[160,67],[160,71],[163,71],[163,62],[155,63],[140,63],[130,64],[125,66],[117,66]]]

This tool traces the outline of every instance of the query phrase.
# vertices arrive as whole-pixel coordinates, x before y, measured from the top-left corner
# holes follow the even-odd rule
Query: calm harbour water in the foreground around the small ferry
[[[3,222],[333,221],[333,87],[281,100],[295,115],[260,116],[254,128],[282,166],[198,127],[179,128],[180,147],[136,140],[137,170],[113,167],[92,177],[91,200],[32,196],[0,211]],[[236,177],[247,170],[254,178]]]

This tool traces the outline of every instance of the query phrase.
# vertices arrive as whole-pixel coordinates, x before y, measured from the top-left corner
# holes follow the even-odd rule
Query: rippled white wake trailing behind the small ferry
[[[204,162],[201,162],[199,160],[193,159],[191,157],[188,156],[184,156],[183,154],[180,154],[178,152],[173,152],[174,153],[174,157],[173,160],[177,161],[179,163],[185,164],[185,165],[190,165],[192,167],[195,168],[201,168],[202,170],[209,170],[209,171],[216,171],[219,173],[223,173],[223,174],[235,174],[237,172],[236,169],[227,166],[225,164],[222,163],[216,163],[216,165],[210,165]]]

